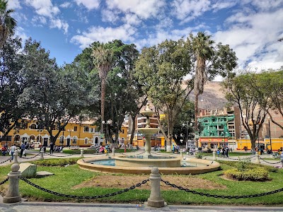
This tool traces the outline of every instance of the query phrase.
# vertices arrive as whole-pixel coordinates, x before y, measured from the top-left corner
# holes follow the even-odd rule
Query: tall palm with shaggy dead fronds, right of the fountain
[[[204,84],[207,80],[206,61],[211,59],[214,54],[212,45],[214,41],[210,39],[210,35],[199,32],[196,37],[192,37],[192,49],[197,57],[197,66],[195,70],[194,93],[195,93],[195,131],[198,131],[197,115],[198,115],[198,98],[204,91]],[[196,142],[198,146],[198,142]]]

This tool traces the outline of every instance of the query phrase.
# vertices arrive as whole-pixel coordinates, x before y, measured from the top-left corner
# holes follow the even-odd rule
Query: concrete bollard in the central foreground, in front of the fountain
[[[151,194],[149,196],[149,199],[147,199],[147,205],[154,208],[164,207],[164,199],[162,199],[160,192],[161,177],[158,167],[152,167],[149,180],[151,182]]]

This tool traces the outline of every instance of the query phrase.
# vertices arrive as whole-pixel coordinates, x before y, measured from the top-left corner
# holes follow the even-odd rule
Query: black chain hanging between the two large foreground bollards
[[[96,195],[96,196],[76,196],[76,195],[62,194],[62,193],[59,193],[59,192],[53,192],[53,191],[51,191],[49,189],[42,188],[39,185],[34,184],[33,182],[30,182],[28,179],[26,179],[24,177],[20,177],[20,179],[22,179],[24,182],[30,184],[31,186],[33,186],[33,187],[35,187],[37,189],[42,190],[43,192],[47,192],[47,193],[54,194],[54,195],[57,195],[57,196],[64,196],[64,197],[69,197],[69,198],[75,198],[75,199],[98,199],[98,198],[105,198],[105,197],[109,197],[109,196],[115,196],[117,194],[122,194],[124,192],[129,192],[129,190],[135,189],[136,187],[140,187],[142,184],[146,184],[146,182],[149,182],[149,179],[145,179],[142,182],[139,182],[139,183],[133,185],[132,187],[129,187],[127,189],[120,190],[120,191],[117,191],[117,192],[112,192],[110,194],[101,194],[101,195]]]

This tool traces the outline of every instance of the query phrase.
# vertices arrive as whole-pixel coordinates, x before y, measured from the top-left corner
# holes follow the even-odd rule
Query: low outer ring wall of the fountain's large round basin
[[[116,160],[119,157],[105,158],[105,157],[95,157],[95,158],[83,158],[77,161],[79,167],[83,170],[90,170],[93,172],[104,172],[104,173],[122,173],[122,174],[150,174],[152,166],[147,166],[146,163],[144,166],[134,167],[134,166],[120,166],[120,165],[100,165],[100,164],[91,164],[94,161],[99,160]],[[130,159],[130,158],[128,158]],[[146,159],[144,159],[146,160]],[[161,159],[165,160],[165,159]],[[181,161],[181,158],[179,158]],[[181,161],[182,162],[182,161]],[[159,172],[164,175],[197,175],[206,172],[212,172],[219,170],[219,163],[212,160],[202,160],[197,158],[187,158],[185,162],[201,164],[197,167],[158,167]]]

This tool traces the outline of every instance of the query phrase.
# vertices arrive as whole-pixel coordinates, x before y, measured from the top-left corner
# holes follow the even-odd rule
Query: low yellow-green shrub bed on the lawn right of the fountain
[[[244,171],[239,171],[237,169],[226,170],[224,175],[228,178],[237,180],[265,181],[269,179],[268,171],[262,167]]]

